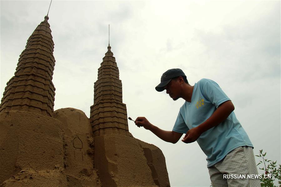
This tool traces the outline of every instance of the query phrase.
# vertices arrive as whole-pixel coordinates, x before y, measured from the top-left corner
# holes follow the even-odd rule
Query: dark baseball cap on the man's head
[[[174,77],[178,76],[185,76],[183,70],[181,69],[169,69],[163,73],[161,76],[161,82],[155,87],[156,91],[163,91],[165,90],[164,87],[172,80]],[[186,76],[185,76],[186,77]]]

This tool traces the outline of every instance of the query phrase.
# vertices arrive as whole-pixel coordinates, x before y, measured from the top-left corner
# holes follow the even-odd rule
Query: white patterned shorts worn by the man
[[[251,174],[258,175],[252,147],[238,147],[208,169],[214,187],[260,187],[259,179],[247,177]],[[246,178],[241,178],[243,176],[246,176]]]

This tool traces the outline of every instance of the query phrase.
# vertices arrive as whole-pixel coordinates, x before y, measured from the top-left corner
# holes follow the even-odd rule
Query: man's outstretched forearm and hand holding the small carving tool
[[[145,129],[150,130],[158,136],[160,139],[171,142],[173,144],[177,143],[183,133],[178,133],[174,131],[167,131],[158,128],[155,125],[152,125],[145,117],[138,117],[135,120],[136,125],[143,126]]]

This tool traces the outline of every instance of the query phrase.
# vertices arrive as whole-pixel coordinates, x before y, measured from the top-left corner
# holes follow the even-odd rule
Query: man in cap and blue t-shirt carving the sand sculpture
[[[184,133],[184,143],[197,141],[207,155],[213,186],[260,186],[259,179],[248,177],[258,174],[253,145],[233,112],[233,103],[216,82],[201,79],[191,86],[181,69],[170,69],[155,89],[166,90],[174,101],[185,100],[173,130],[162,130],[145,117],[138,117],[136,125],[167,142],[177,143]],[[241,179],[243,175],[246,179]]]

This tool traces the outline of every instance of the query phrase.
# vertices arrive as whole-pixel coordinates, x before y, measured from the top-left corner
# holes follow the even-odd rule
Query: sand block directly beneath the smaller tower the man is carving
[[[116,134],[95,137],[94,159],[103,186],[157,186],[135,138]]]

